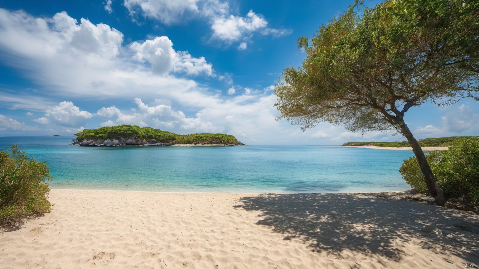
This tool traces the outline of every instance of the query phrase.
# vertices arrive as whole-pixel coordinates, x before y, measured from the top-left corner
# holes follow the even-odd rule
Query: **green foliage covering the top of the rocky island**
[[[120,139],[120,137],[132,137],[154,139],[162,142],[174,142],[180,144],[210,143],[210,144],[239,144],[240,142],[230,134],[174,134],[151,127],[140,128],[136,125],[118,125],[101,127],[98,129],[84,129],[75,134],[79,141],[85,139]]]

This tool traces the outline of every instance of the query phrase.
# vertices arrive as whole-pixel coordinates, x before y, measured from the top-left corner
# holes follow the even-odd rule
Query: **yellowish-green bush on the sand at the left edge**
[[[0,226],[20,225],[27,216],[50,211],[48,183],[50,169],[45,162],[29,158],[17,145],[0,151]]]

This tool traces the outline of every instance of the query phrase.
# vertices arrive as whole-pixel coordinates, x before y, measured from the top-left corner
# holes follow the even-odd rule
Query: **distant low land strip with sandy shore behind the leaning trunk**
[[[479,136],[477,136],[479,137]],[[449,146],[452,146],[456,141],[464,138],[476,138],[476,136],[448,136],[448,137],[430,137],[419,139],[419,146],[425,151],[431,150],[447,150]],[[342,144],[342,146],[354,146],[363,148],[380,148],[380,149],[403,149],[411,150],[411,146],[407,141],[396,142],[348,142]]]

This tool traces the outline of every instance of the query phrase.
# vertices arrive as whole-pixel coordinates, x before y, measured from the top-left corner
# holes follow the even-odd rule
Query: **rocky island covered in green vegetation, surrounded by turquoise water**
[[[174,134],[151,127],[122,124],[84,129],[71,145],[80,146],[247,146],[230,134]]]

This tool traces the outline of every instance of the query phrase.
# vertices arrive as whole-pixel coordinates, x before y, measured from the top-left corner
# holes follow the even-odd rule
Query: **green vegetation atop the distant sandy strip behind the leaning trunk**
[[[478,138],[479,136],[448,136],[448,137],[430,137],[419,139],[419,146],[452,146],[459,140]],[[410,146],[407,141],[396,142],[348,142],[342,144],[342,146],[387,146],[387,147],[403,147]]]

